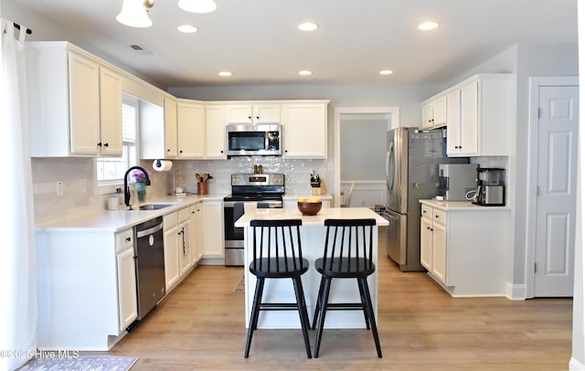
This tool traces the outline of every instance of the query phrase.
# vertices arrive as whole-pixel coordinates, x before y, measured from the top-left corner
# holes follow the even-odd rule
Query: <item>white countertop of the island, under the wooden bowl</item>
[[[374,218],[378,226],[388,226],[388,220],[367,207],[324,207],[317,215],[303,216],[296,208],[252,208],[236,220],[236,227],[250,227],[254,219],[301,219],[303,226],[323,226],[325,219]]]

